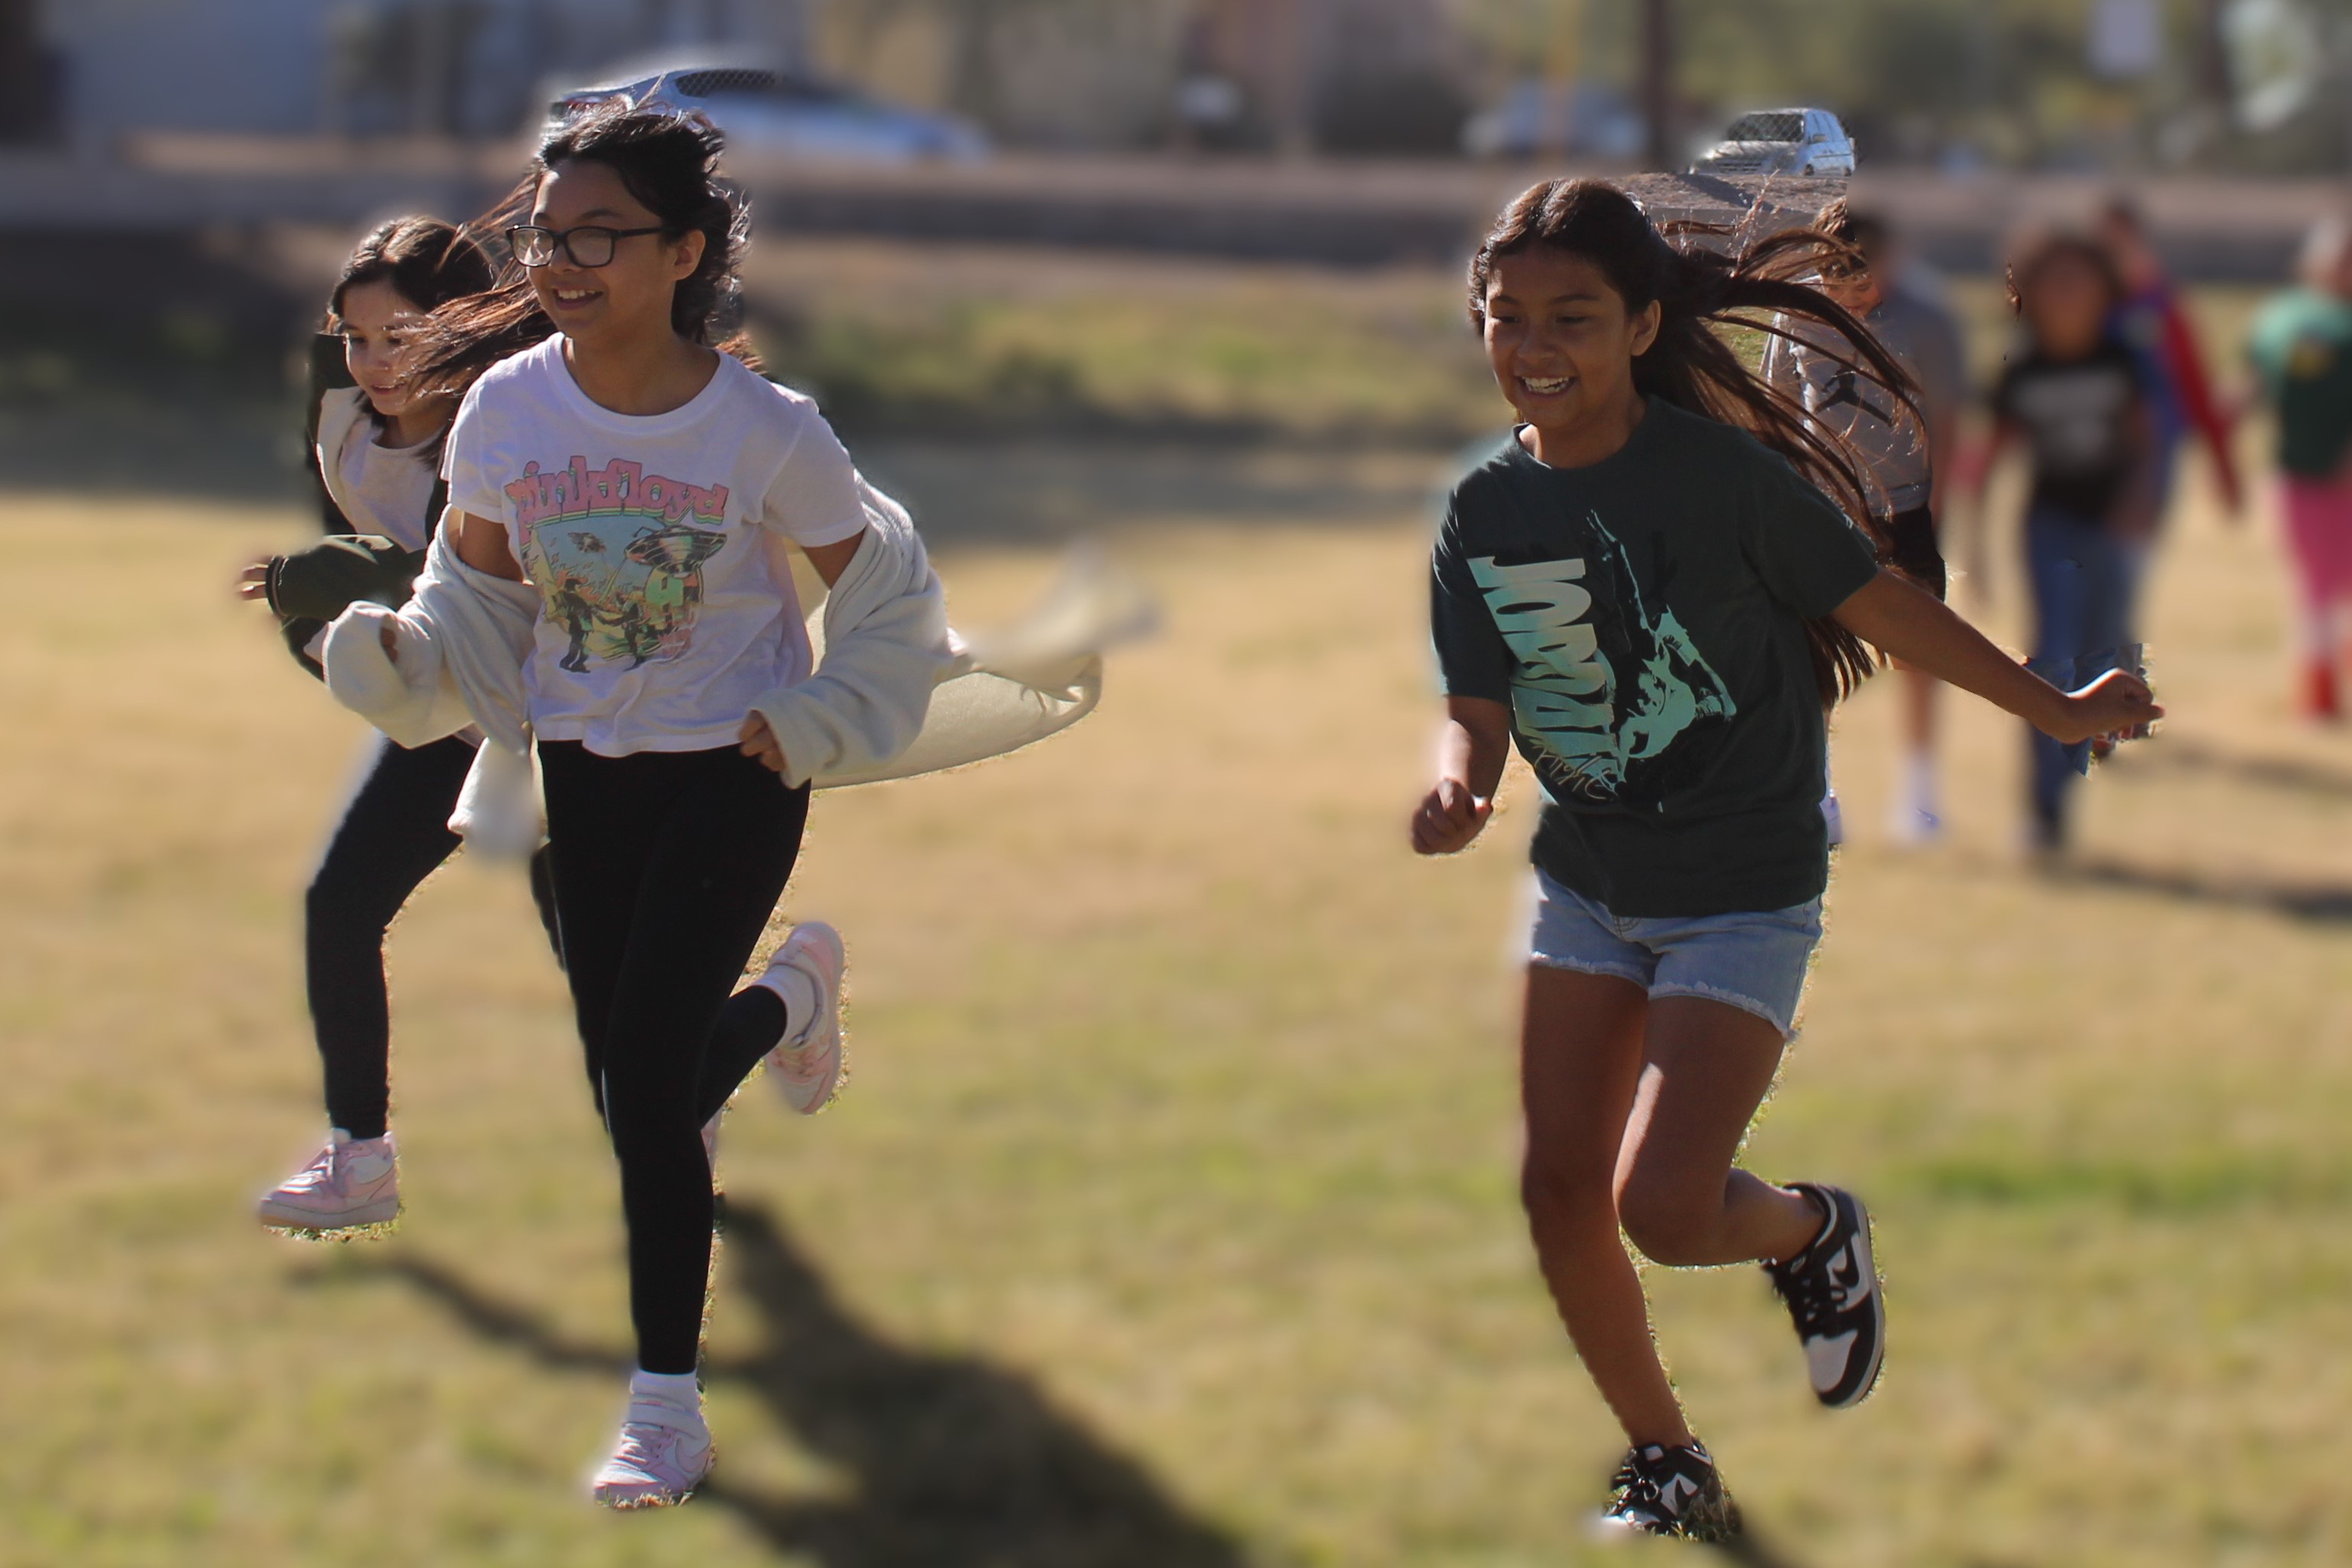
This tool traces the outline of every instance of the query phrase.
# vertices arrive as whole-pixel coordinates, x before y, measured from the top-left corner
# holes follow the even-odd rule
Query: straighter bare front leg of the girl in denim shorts
[[[1618,1234],[1613,1192],[1625,1119],[1644,1074],[1649,1006],[1646,992],[1630,980],[1529,966],[1519,1037],[1526,1105],[1519,1192],[1543,1281],[1585,1373],[1637,1448],[1672,1448],[1689,1443],[1691,1429],[1649,1335],[1649,1300]]]

